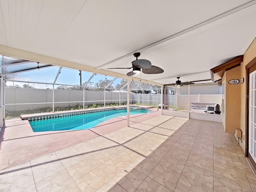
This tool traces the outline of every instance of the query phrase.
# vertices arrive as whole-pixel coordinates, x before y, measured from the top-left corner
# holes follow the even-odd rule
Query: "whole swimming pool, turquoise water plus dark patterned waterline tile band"
[[[153,112],[145,108],[133,108],[130,114],[145,114]],[[87,110],[66,114],[40,116],[29,118],[28,121],[34,132],[82,130],[90,129],[108,119],[127,115],[126,108],[107,108],[100,110]]]

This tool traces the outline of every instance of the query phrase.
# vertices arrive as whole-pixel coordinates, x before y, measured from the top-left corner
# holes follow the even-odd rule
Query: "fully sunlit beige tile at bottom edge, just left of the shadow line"
[[[110,180],[102,170],[96,168],[88,174],[76,180],[76,184],[82,191],[95,192]]]

